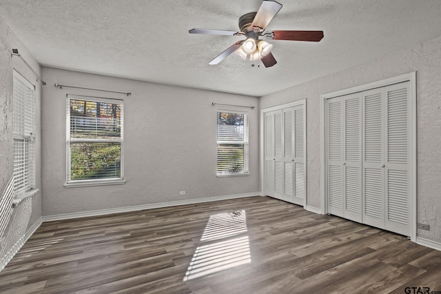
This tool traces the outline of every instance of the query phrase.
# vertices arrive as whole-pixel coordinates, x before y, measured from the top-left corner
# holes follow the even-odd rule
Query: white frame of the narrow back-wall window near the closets
[[[243,135],[243,141],[224,141],[224,140],[217,140],[218,139],[218,117],[219,113],[229,113],[229,114],[243,114],[244,115],[244,135]],[[216,111],[216,176],[219,178],[223,177],[232,177],[232,176],[249,176],[249,122],[248,122],[249,116],[248,112],[240,112],[236,110],[217,110]],[[220,173],[218,172],[218,147],[219,145],[243,145],[243,171],[236,171],[231,173]]]

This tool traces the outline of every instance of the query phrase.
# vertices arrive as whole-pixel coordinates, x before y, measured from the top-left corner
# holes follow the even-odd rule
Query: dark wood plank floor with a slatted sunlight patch
[[[20,294],[406,287],[441,293],[441,251],[263,197],[45,222],[0,273],[0,293]]]

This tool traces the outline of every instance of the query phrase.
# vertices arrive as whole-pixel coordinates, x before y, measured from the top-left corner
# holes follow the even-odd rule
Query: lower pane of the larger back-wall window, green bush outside
[[[121,143],[71,143],[71,180],[121,178]]]

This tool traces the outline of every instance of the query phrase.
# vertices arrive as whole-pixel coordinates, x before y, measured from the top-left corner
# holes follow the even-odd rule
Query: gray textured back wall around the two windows
[[[43,216],[259,191],[258,98],[43,67]],[[54,83],[119,92],[54,87]],[[124,99],[124,185],[65,188],[66,94]],[[215,103],[256,108],[213,106]],[[216,110],[249,113],[249,176],[216,178]],[[179,191],[186,191],[179,196]]]

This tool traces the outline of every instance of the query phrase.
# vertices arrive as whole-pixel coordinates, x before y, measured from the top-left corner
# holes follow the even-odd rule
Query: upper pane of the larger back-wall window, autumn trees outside
[[[121,138],[121,105],[70,100],[71,138]]]

